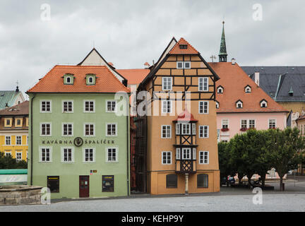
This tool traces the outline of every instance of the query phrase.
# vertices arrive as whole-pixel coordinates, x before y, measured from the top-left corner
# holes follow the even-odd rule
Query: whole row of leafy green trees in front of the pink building
[[[237,173],[239,183],[246,175],[249,184],[253,174],[259,174],[265,185],[265,174],[275,168],[281,178],[290,169],[305,162],[305,141],[297,128],[249,130],[237,134],[229,143],[219,143],[220,174],[225,176]]]

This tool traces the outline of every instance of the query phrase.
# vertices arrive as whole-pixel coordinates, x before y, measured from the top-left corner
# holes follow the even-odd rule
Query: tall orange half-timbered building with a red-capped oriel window
[[[138,187],[150,194],[220,190],[215,82],[219,79],[201,54],[173,38],[138,86],[147,91],[146,115],[138,115]],[[138,112],[139,113],[139,112]]]

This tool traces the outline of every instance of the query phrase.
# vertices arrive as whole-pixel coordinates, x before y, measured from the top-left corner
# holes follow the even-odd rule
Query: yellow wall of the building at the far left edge
[[[6,145],[5,137],[11,136],[11,145]],[[16,145],[16,136],[22,136],[21,145]],[[27,160],[27,152],[28,152],[28,143],[27,143],[28,133],[1,133],[0,135],[0,151],[5,153],[6,151],[11,151],[11,155],[13,158],[16,158],[16,152],[22,152],[22,159]]]

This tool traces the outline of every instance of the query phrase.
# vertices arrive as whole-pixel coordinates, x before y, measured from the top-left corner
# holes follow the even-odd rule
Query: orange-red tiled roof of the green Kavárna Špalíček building
[[[63,76],[74,75],[73,85],[64,85]],[[95,85],[86,85],[88,73],[97,76]],[[28,93],[116,93],[130,90],[124,86],[107,66],[54,66]]]

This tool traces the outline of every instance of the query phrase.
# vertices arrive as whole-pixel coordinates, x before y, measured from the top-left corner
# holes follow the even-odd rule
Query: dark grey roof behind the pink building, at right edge
[[[305,102],[305,66],[241,66],[254,80],[260,73],[261,88],[277,102]],[[289,92],[293,91],[293,95]]]

